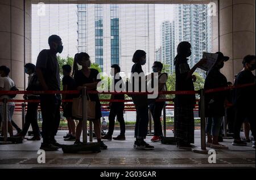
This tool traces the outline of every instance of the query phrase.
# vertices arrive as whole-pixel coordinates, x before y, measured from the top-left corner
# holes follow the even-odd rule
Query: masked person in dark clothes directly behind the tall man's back
[[[28,87],[27,91],[36,91],[37,89],[33,89],[32,86],[35,85],[35,83],[38,82],[38,78],[35,75],[35,65],[32,63],[27,63],[24,66],[24,71],[26,74],[28,74]],[[24,99],[28,100],[38,100],[38,95],[24,95]],[[28,102],[27,104],[27,113],[25,116],[25,123],[22,129],[22,132],[15,136],[25,136],[27,134],[28,128],[30,127],[30,124],[32,126],[33,130],[33,137],[27,140],[41,140],[40,138],[40,131],[38,126],[38,102]]]

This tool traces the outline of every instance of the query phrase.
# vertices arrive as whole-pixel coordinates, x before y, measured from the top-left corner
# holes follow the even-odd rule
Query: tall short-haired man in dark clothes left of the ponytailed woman
[[[36,75],[43,91],[60,91],[60,68],[57,53],[63,51],[61,38],[52,35],[48,38],[50,49],[42,50],[36,61]],[[58,94],[40,95],[42,110],[42,137],[40,149],[44,151],[57,151],[61,145],[56,142],[55,135],[60,124],[61,97]]]

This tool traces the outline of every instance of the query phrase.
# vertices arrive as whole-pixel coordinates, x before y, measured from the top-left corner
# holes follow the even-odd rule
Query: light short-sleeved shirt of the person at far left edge
[[[9,76],[7,77],[0,77],[0,88],[2,88],[3,91],[10,91],[12,87],[14,87],[15,84]],[[4,98],[7,98],[9,100],[13,100],[13,98],[10,98],[9,96],[0,96],[0,100],[3,100]],[[0,105],[3,105],[3,102],[0,101]],[[14,102],[8,102],[8,105],[14,106]]]

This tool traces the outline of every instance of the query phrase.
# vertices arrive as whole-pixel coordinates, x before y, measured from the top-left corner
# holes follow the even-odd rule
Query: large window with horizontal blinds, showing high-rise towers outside
[[[47,38],[52,34],[63,40],[61,58],[86,52],[106,76],[113,63],[129,74],[137,49],[147,53],[146,74],[152,71],[154,61],[161,61],[170,77],[180,41],[192,44],[191,66],[204,51],[218,51],[217,0],[112,2],[26,0],[26,63],[36,62],[40,50],[48,48]],[[204,71],[197,73],[205,78]]]

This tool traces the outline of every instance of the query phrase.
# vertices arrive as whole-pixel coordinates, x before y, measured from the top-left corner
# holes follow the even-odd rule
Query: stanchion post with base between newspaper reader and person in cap
[[[207,154],[205,138],[205,92],[200,89],[200,117],[201,117],[201,148],[193,148],[192,152]]]

